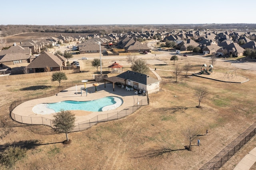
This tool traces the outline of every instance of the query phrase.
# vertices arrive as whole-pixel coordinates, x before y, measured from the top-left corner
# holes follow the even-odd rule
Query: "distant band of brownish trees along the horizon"
[[[146,24],[146,25],[0,25],[2,36],[12,36],[25,32],[59,32],[59,33],[86,33],[86,34],[110,34],[173,30],[244,30],[255,31],[256,24]]]

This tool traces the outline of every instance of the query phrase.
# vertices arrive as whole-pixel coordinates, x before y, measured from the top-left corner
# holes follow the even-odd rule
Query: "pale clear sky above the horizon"
[[[0,0],[0,25],[255,24],[255,6],[255,0]]]

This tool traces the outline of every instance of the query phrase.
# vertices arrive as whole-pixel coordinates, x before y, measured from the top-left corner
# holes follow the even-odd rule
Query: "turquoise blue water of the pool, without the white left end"
[[[92,111],[100,112],[103,107],[114,105],[118,101],[118,107],[120,106],[120,100],[122,105],[122,99],[119,97],[104,97],[92,101],[62,101],[58,103],[48,103],[46,108],[53,109],[55,112],[60,112],[61,109],[64,111],[70,110],[83,110],[83,111]]]

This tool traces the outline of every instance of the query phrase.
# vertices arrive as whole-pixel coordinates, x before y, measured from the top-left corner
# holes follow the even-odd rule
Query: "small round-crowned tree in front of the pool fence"
[[[52,123],[54,125],[54,130],[61,133],[65,132],[67,138],[66,141],[68,142],[68,132],[73,130],[75,127],[75,114],[72,114],[71,111],[61,110],[60,112],[56,113],[53,117],[54,119],[52,120]]]

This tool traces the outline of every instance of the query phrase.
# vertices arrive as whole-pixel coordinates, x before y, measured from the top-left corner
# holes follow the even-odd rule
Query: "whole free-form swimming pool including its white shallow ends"
[[[82,110],[100,112],[116,109],[122,104],[123,100],[120,97],[108,96],[92,101],[61,101],[58,103],[41,103],[34,106],[32,111],[40,115],[60,112],[61,109],[64,111]]]

